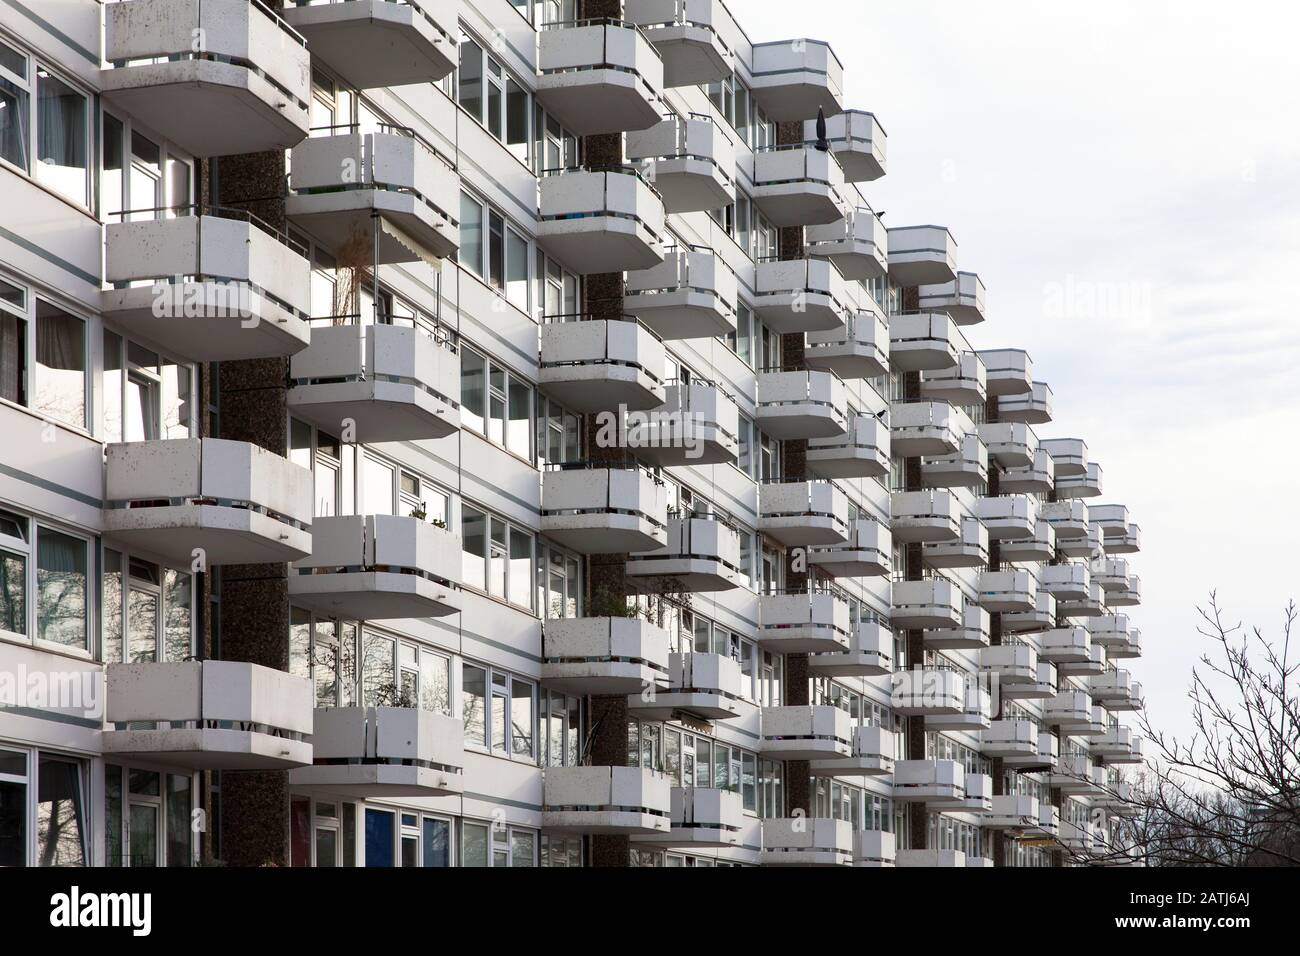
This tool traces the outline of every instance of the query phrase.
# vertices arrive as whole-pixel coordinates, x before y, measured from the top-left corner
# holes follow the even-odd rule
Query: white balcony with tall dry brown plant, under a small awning
[[[289,363],[289,410],[358,442],[445,438],[460,429],[460,356],[402,325],[312,325]]]

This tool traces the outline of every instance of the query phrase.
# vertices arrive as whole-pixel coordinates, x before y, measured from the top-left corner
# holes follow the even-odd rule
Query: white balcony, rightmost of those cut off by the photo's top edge
[[[729,17],[722,0],[627,0],[623,16],[659,51],[664,86],[705,86],[731,75],[732,52],[718,33]]]

